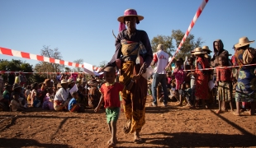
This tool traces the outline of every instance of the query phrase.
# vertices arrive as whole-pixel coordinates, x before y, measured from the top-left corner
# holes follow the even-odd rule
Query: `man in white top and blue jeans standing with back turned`
[[[159,44],[157,47],[158,52],[154,53],[154,58],[151,63],[154,67],[154,76],[152,81],[152,96],[153,96],[153,103],[151,106],[157,106],[157,87],[159,82],[164,90],[164,107],[167,106],[168,103],[168,92],[166,88],[166,71],[165,67],[168,64],[168,53],[164,52],[164,45]]]

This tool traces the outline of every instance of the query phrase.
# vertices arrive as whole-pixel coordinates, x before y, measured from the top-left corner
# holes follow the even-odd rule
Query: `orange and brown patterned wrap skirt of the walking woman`
[[[123,85],[128,85],[133,75],[140,72],[140,65],[135,62],[123,62],[119,81]],[[124,103],[126,118],[130,119],[130,133],[140,132],[145,125],[145,101],[147,97],[147,80],[141,76],[135,81],[131,90],[122,91],[121,97]]]

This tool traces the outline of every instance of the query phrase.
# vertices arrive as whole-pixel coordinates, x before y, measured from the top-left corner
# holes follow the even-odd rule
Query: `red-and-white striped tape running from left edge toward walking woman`
[[[33,59],[33,60],[42,61],[42,62],[58,63],[58,64],[61,64],[61,65],[67,65],[67,66],[70,66],[70,67],[84,67],[83,64],[79,64],[79,63],[75,63],[75,62],[67,62],[67,61],[64,61],[64,60],[44,57],[44,56],[41,56],[41,55],[21,52],[21,51],[12,50],[12,49],[6,49],[6,48],[2,48],[2,47],[0,47],[0,54],[13,56],[13,57],[19,57],[19,58],[28,58],[28,59]],[[92,67],[92,70],[95,71],[95,72],[100,71],[99,67],[94,67],[94,66],[90,65],[89,68],[91,68],[91,67]],[[88,68],[88,67],[85,67],[85,68]]]

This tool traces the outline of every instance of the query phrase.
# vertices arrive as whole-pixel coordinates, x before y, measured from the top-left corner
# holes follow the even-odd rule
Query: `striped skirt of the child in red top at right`
[[[221,101],[230,101],[232,98],[232,85],[231,82],[219,81],[217,98]]]

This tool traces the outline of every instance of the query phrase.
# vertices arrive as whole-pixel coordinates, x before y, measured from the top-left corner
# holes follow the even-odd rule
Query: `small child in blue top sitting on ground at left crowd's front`
[[[75,91],[71,95],[73,98],[69,101],[69,112],[83,112],[84,107],[77,103],[77,99],[79,98],[78,92]]]

